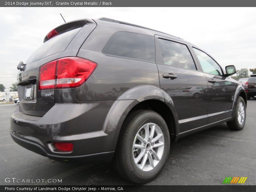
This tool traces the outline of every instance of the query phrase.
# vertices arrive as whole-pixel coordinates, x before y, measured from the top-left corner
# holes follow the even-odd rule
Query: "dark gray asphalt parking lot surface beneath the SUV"
[[[10,116],[17,107],[0,105],[0,185],[36,184],[6,183],[5,178],[62,180],[58,185],[131,184],[121,179],[110,163],[52,163],[47,157],[20,147],[9,134]],[[242,131],[231,131],[221,124],[172,143],[163,171],[146,185],[221,185],[228,176],[248,177],[245,184],[256,185],[255,108],[256,98],[248,101]]]

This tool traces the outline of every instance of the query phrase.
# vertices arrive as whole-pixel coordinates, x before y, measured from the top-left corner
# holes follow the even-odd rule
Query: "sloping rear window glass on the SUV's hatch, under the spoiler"
[[[26,63],[31,63],[49,55],[65,51],[70,41],[80,29],[76,28],[49,39],[29,57]]]

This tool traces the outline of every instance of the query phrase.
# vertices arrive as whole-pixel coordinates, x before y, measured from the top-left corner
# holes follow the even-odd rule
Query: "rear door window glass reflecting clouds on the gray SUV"
[[[195,62],[187,45],[160,38],[158,39],[158,43],[164,64],[172,67],[196,70]]]

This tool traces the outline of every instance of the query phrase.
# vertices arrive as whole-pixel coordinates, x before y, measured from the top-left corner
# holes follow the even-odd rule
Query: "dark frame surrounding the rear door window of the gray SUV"
[[[174,67],[174,66],[171,66],[171,65],[167,65],[167,64],[164,64],[164,59],[163,59],[163,56],[162,56],[162,53],[160,51],[160,48],[159,48],[159,44],[158,44],[158,39],[163,39],[163,40],[167,40],[167,41],[172,41],[172,42],[175,42],[175,43],[179,43],[179,44],[183,44],[187,47],[190,55],[191,55],[191,58],[193,59],[194,61],[194,65],[196,67],[196,69],[191,69],[191,68],[183,68],[183,67],[177,67],[175,66],[175,68],[180,68],[180,69],[185,69],[185,70],[193,70],[193,71],[199,71],[198,69],[198,66],[197,66],[197,62],[191,52],[191,50],[189,49],[189,45],[186,43],[186,42],[183,42],[183,41],[178,41],[176,39],[172,39],[172,38],[169,38],[169,37],[164,37],[164,36],[159,36],[159,35],[155,35],[155,40],[156,40],[156,55],[158,54],[158,58],[156,57],[156,64],[159,64],[159,65],[165,65],[165,66],[169,66],[169,67]],[[158,53],[157,53],[158,52]],[[161,58],[161,59],[160,59]],[[157,62],[158,60],[158,62]],[[161,61],[160,61],[161,60]]]

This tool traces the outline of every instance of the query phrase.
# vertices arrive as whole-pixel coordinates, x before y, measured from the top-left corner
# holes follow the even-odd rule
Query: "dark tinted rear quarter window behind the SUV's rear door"
[[[155,38],[137,33],[117,32],[102,52],[111,56],[155,62]]]

